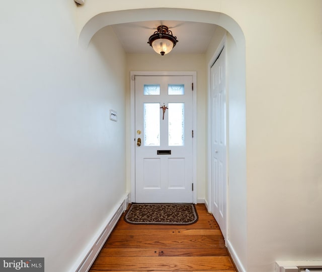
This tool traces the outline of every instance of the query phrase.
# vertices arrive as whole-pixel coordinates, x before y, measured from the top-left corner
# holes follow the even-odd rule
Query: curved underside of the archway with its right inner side
[[[178,20],[214,24],[227,35],[228,54],[228,176],[227,247],[239,270],[247,263],[247,183],[246,183],[246,41],[239,25],[229,16],[188,9],[138,9],[101,13],[91,18],[78,37],[87,47],[100,29],[122,23]],[[215,50],[214,50],[215,51]],[[211,62],[211,59],[208,60]]]

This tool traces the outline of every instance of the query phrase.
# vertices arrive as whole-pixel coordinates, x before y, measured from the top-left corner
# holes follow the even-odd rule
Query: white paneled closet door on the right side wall
[[[211,211],[226,238],[226,91],[225,49],[210,69],[211,74]]]

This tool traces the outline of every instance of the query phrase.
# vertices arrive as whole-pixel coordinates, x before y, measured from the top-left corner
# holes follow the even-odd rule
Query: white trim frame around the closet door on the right
[[[216,59],[219,57],[221,50],[223,49],[223,47],[227,48],[227,44],[226,44],[226,36],[223,37],[223,39],[221,40],[215,54],[213,55],[213,57],[211,58],[210,62],[208,63],[208,212],[212,213],[211,211],[211,203],[212,203],[212,164],[211,164],[211,75],[210,75],[210,69],[212,67],[212,65],[214,64],[214,62],[216,61]],[[226,54],[227,54],[226,50]],[[226,64],[225,64],[225,73],[227,71],[227,58],[225,58]],[[229,116],[228,116],[228,84],[227,84],[227,73],[226,73],[226,77],[225,77],[225,85],[226,85],[226,235],[228,235],[228,171],[229,171],[229,165],[228,165],[228,145],[229,145],[229,141],[228,141],[228,120],[229,120]],[[228,238],[228,237],[226,237]]]

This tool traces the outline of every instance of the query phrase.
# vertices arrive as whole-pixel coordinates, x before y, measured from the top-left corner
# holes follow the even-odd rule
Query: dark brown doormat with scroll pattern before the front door
[[[124,220],[141,225],[190,225],[198,221],[198,214],[194,204],[132,203]]]

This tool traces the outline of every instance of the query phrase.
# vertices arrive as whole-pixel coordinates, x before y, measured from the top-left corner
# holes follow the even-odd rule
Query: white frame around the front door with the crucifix
[[[192,108],[193,120],[192,127],[194,131],[192,141],[192,183],[193,183],[193,203],[197,204],[197,72],[196,71],[131,71],[130,72],[130,103],[131,103],[131,137],[130,137],[130,203],[135,202],[135,76],[192,76]]]

